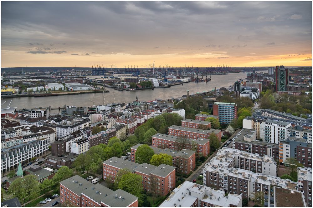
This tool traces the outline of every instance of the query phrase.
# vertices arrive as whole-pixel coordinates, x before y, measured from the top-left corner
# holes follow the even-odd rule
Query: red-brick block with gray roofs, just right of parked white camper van
[[[162,196],[166,196],[169,191],[175,188],[175,169],[175,167],[165,164],[156,167],[146,163],[138,164],[136,162],[112,157],[103,162],[103,179],[114,182],[115,177],[118,176],[121,170],[136,173],[141,175],[143,189],[145,191],[150,191],[148,184],[151,184],[150,181],[152,180],[156,181],[156,192],[160,193]]]

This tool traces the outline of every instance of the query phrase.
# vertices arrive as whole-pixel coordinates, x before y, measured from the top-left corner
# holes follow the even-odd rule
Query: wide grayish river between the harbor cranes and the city
[[[171,97],[177,98],[184,94],[187,94],[189,90],[190,94],[196,94],[197,92],[210,91],[215,87],[217,89],[221,87],[228,88],[229,85],[233,85],[234,82],[239,79],[245,79],[246,74],[230,73],[228,75],[211,75],[211,81],[205,83],[183,83],[183,85],[175,85],[170,88],[158,88],[158,89],[146,89],[146,90],[130,90],[130,91],[117,91],[115,92],[115,103],[129,103],[133,102],[138,95],[139,101],[148,101],[155,99],[169,99]],[[105,104],[113,103],[113,89],[105,88],[110,90],[109,93],[105,93]],[[94,93],[95,105],[103,104],[103,94]],[[60,95],[60,96],[48,96],[48,97],[20,97],[20,98],[6,98],[2,99],[1,103],[7,100],[7,103],[12,99],[10,107],[18,107],[17,109],[23,108],[38,108],[38,107],[49,107],[58,108],[64,107],[64,105],[75,105],[77,107],[93,105],[93,94],[77,94],[77,95]],[[51,110],[50,114],[57,114],[59,110]]]

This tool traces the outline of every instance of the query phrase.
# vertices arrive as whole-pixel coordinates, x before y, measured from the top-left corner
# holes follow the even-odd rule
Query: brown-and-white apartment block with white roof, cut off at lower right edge
[[[298,191],[303,193],[307,206],[312,206],[312,168],[298,167]]]

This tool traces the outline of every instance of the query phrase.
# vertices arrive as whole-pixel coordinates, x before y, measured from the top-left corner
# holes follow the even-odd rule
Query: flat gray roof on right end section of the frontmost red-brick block
[[[121,189],[117,189],[106,198],[104,198],[102,201],[112,207],[126,207],[137,199],[138,197]]]

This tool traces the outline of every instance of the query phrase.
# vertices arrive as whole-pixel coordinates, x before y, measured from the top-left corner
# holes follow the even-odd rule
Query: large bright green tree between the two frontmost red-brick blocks
[[[139,204],[142,204],[142,183],[141,176],[134,173],[126,173],[118,183],[118,188],[138,197]]]

